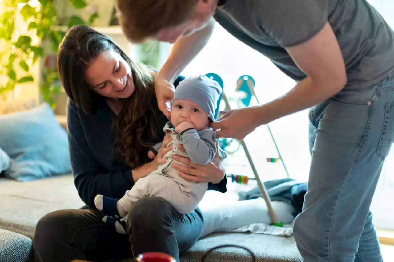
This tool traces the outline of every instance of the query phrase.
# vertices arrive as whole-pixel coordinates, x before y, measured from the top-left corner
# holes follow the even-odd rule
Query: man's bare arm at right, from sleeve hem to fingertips
[[[212,128],[216,137],[244,138],[259,125],[312,107],[337,94],[347,83],[346,68],[338,41],[327,22],[312,39],[286,48],[307,77],[290,92],[264,105],[229,111]]]

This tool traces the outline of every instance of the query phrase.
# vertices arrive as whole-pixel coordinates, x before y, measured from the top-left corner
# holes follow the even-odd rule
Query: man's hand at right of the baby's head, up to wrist
[[[212,129],[216,131],[216,138],[231,137],[238,140],[245,138],[252,133],[261,121],[256,115],[254,107],[242,109],[232,109],[224,116],[211,124]]]

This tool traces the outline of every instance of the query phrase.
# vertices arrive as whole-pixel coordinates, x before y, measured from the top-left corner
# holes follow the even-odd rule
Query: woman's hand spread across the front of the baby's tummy
[[[184,151],[182,145],[179,145],[178,148]],[[182,162],[183,164],[191,166],[191,168],[188,168],[180,164],[173,165],[173,168],[179,171],[179,175],[188,181],[201,182],[201,183],[210,182],[210,183],[218,184],[226,174],[226,170],[220,161],[219,143],[217,141],[216,141],[216,155],[214,159],[212,159],[212,161],[206,164],[205,166],[194,164],[193,162],[190,161],[189,158],[181,157],[180,155],[174,155],[174,159]]]

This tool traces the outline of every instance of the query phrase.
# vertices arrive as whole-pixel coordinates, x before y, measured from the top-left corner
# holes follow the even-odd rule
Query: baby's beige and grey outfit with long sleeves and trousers
[[[191,182],[180,177],[173,164],[186,165],[173,159],[173,156],[189,157],[195,164],[208,164],[216,155],[215,131],[210,128],[198,132],[195,129],[187,129],[178,134],[171,122],[165,125],[164,131],[171,132],[173,138],[167,145],[173,146],[173,149],[164,156],[167,162],[159,165],[157,170],[146,177],[138,179],[136,184],[126,191],[125,196],[119,199],[118,207],[120,206],[125,214],[133,203],[147,196],[161,197],[180,214],[188,214],[197,207],[208,189],[208,183]],[[178,149],[180,144],[187,153]],[[224,151],[221,151],[220,155],[221,160],[227,157]]]

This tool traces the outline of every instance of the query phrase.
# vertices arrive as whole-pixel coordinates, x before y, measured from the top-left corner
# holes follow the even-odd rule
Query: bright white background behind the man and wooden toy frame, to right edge
[[[370,0],[388,24],[394,28],[394,1]],[[256,81],[260,103],[277,98],[294,86],[294,81],[282,74],[266,57],[245,46],[219,25],[206,48],[184,70],[184,75],[214,72],[223,78],[225,92],[231,94],[236,80],[243,74]],[[290,176],[307,181],[309,175],[308,110],[286,116],[270,124]],[[266,157],[277,157],[266,127],[256,129],[246,138],[255,164],[263,179],[284,177],[281,164],[267,164]],[[250,174],[242,149],[228,161],[230,173]],[[394,150],[387,157],[371,206],[374,223],[379,228],[394,229]]]

